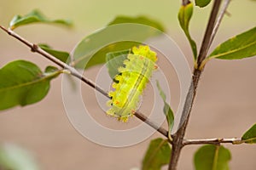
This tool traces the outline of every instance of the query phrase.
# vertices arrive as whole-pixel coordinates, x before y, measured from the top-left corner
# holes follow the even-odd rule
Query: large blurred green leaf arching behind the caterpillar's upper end
[[[147,26],[129,24],[140,23]],[[123,24],[123,25],[120,25]],[[149,37],[162,33],[152,27],[163,30],[163,26],[146,17],[117,17],[102,30],[85,37],[73,52],[73,66],[87,69],[106,62],[106,54],[137,46]]]

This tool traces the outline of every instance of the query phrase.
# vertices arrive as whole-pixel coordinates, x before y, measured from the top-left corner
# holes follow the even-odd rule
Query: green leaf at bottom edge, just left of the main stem
[[[143,170],[160,170],[160,167],[169,163],[171,152],[167,140],[151,140],[143,159]]]

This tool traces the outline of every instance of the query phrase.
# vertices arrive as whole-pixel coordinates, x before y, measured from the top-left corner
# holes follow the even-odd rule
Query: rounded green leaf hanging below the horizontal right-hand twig
[[[196,170],[229,170],[230,150],[224,146],[206,144],[195,152]]]

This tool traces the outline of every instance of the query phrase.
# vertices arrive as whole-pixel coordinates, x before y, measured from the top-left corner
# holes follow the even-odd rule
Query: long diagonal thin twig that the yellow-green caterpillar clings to
[[[27,47],[31,48],[32,52],[38,53],[43,55],[46,59],[51,60],[52,62],[54,62],[56,65],[61,66],[61,68],[66,69],[67,71],[70,72],[71,75],[73,75],[74,77],[79,78],[80,80],[82,80],[83,82],[85,82],[86,84],[88,84],[91,88],[95,88],[98,92],[100,92],[101,94],[103,94],[104,96],[108,97],[108,93],[105,92],[102,88],[100,88],[99,86],[97,86],[94,82],[92,82],[90,79],[85,78],[82,74],[79,73],[79,71],[77,71],[76,69],[74,69],[72,66],[67,65],[66,63],[62,62],[59,59],[56,59],[54,56],[52,56],[51,54],[47,53],[44,51],[44,49],[38,47],[38,45],[27,41],[25,38],[20,37],[20,35],[16,34],[15,31],[12,31],[10,29],[6,29],[3,26],[0,26],[0,28],[7,32],[11,37],[15,37],[17,40],[19,40],[20,42],[23,42],[24,44],[26,44]],[[109,98],[110,99],[110,98]],[[147,116],[144,116],[143,113],[140,112],[136,112],[134,114],[135,116],[137,116],[137,118],[139,118],[140,120],[142,120],[143,122],[147,123],[148,126],[153,127],[155,130],[157,130],[159,133],[163,134],[167,139],[168,139],[168,131],[166,131],[166,129],[164,129],[163,127],[159,127],[157,126],[154,122],[152,122],[151,120],[148,119]]]

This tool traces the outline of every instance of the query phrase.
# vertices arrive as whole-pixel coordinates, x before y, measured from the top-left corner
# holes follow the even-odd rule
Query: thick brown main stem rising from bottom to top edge
[[[204,69],[204,66],[201,68],[201,70],[199,70],[198,68],[201,67],[202,60],[207,57],[208,47],[209,47],[210,39],[212,37],[212,30],[213,30],[213,27],[214,27],[214,24],[215,24],[217,15],[218,15],[220,3],[221,3],[221,0],[215,0],[213,3],[210,18],[209,18],[208,24],[207,24],[207,30],[203,37],[200,53],[199,53],[197,61],[196,61],[197,68],[195,68],[193,71],[193,77],[192,77],[192,81],[190,84],[189,93],[187,94],[186,103],[183,107],[181,122],[183,122],[183,121],[184,122],[180,126],[180,128],[177,130],[177,133],[175,133],[172,136],[172,156],[171,156],[171,160],[170,160],[169,167],[168,167],[169,170],[177,169],[177,161],[180,156],[180,152],[183,148],[183,137],[184,137],[186,127],[189,122],[189,115],[190,115],[192,106],[194,104],[196,89],[197,89],[198,82],[201,77],[201,72]]]

